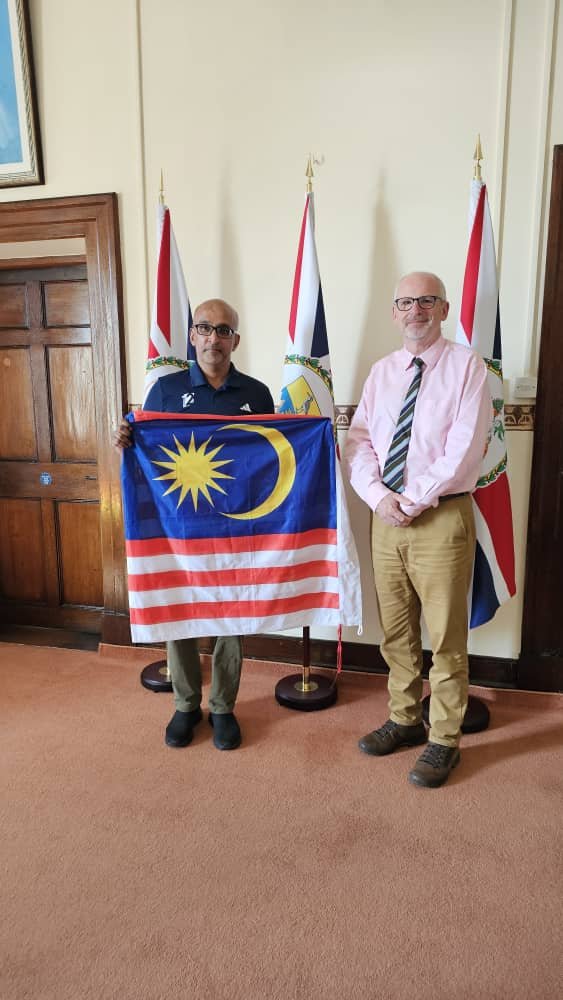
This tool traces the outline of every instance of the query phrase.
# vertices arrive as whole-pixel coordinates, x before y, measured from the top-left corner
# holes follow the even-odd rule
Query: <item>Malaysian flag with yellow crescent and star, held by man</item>
[[[134,642],[361,621],[329,419],[127,419]]]

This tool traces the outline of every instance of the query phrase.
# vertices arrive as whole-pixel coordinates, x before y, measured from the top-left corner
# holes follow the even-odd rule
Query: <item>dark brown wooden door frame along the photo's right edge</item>
[[[518,687],[563,691],[563,146],[553,159]]]

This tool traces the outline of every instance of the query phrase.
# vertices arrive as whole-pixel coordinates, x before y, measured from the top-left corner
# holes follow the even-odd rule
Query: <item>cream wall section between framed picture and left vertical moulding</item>
[[[45,184],[0,201],[115,191],[129,343],[147,336],[135,0],[30,0]],[[129,350],[129,353],[134,353]]]

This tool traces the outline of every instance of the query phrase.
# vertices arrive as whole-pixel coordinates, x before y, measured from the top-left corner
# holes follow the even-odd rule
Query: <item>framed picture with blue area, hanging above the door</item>
[[[0,0],[0,187],[42,183],[27,0]]]

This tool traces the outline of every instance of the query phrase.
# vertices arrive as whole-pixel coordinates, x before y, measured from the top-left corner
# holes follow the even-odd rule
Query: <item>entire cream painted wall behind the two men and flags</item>
[[[551,149],[563,142],[559,0],[31,0],[46,184],[117,191],[128,382],[142,396],[154,217],[167,202],[192,302],[241,313],[240,367],[280,385],[309,151],[336,400],[396,344],[397,277],[436,270],[455,315],[481,133],[508,386],[534,373]],[[110,30],[111,29],[111,30]],[[508,435],[522,583],[531,434]],[[352,498],[365,548],[367,513]],[[378,639],[365,567],[364,641]],[[471,637],[515,656],[521,598]],[[355,633],[348,636],[355,638]]]

